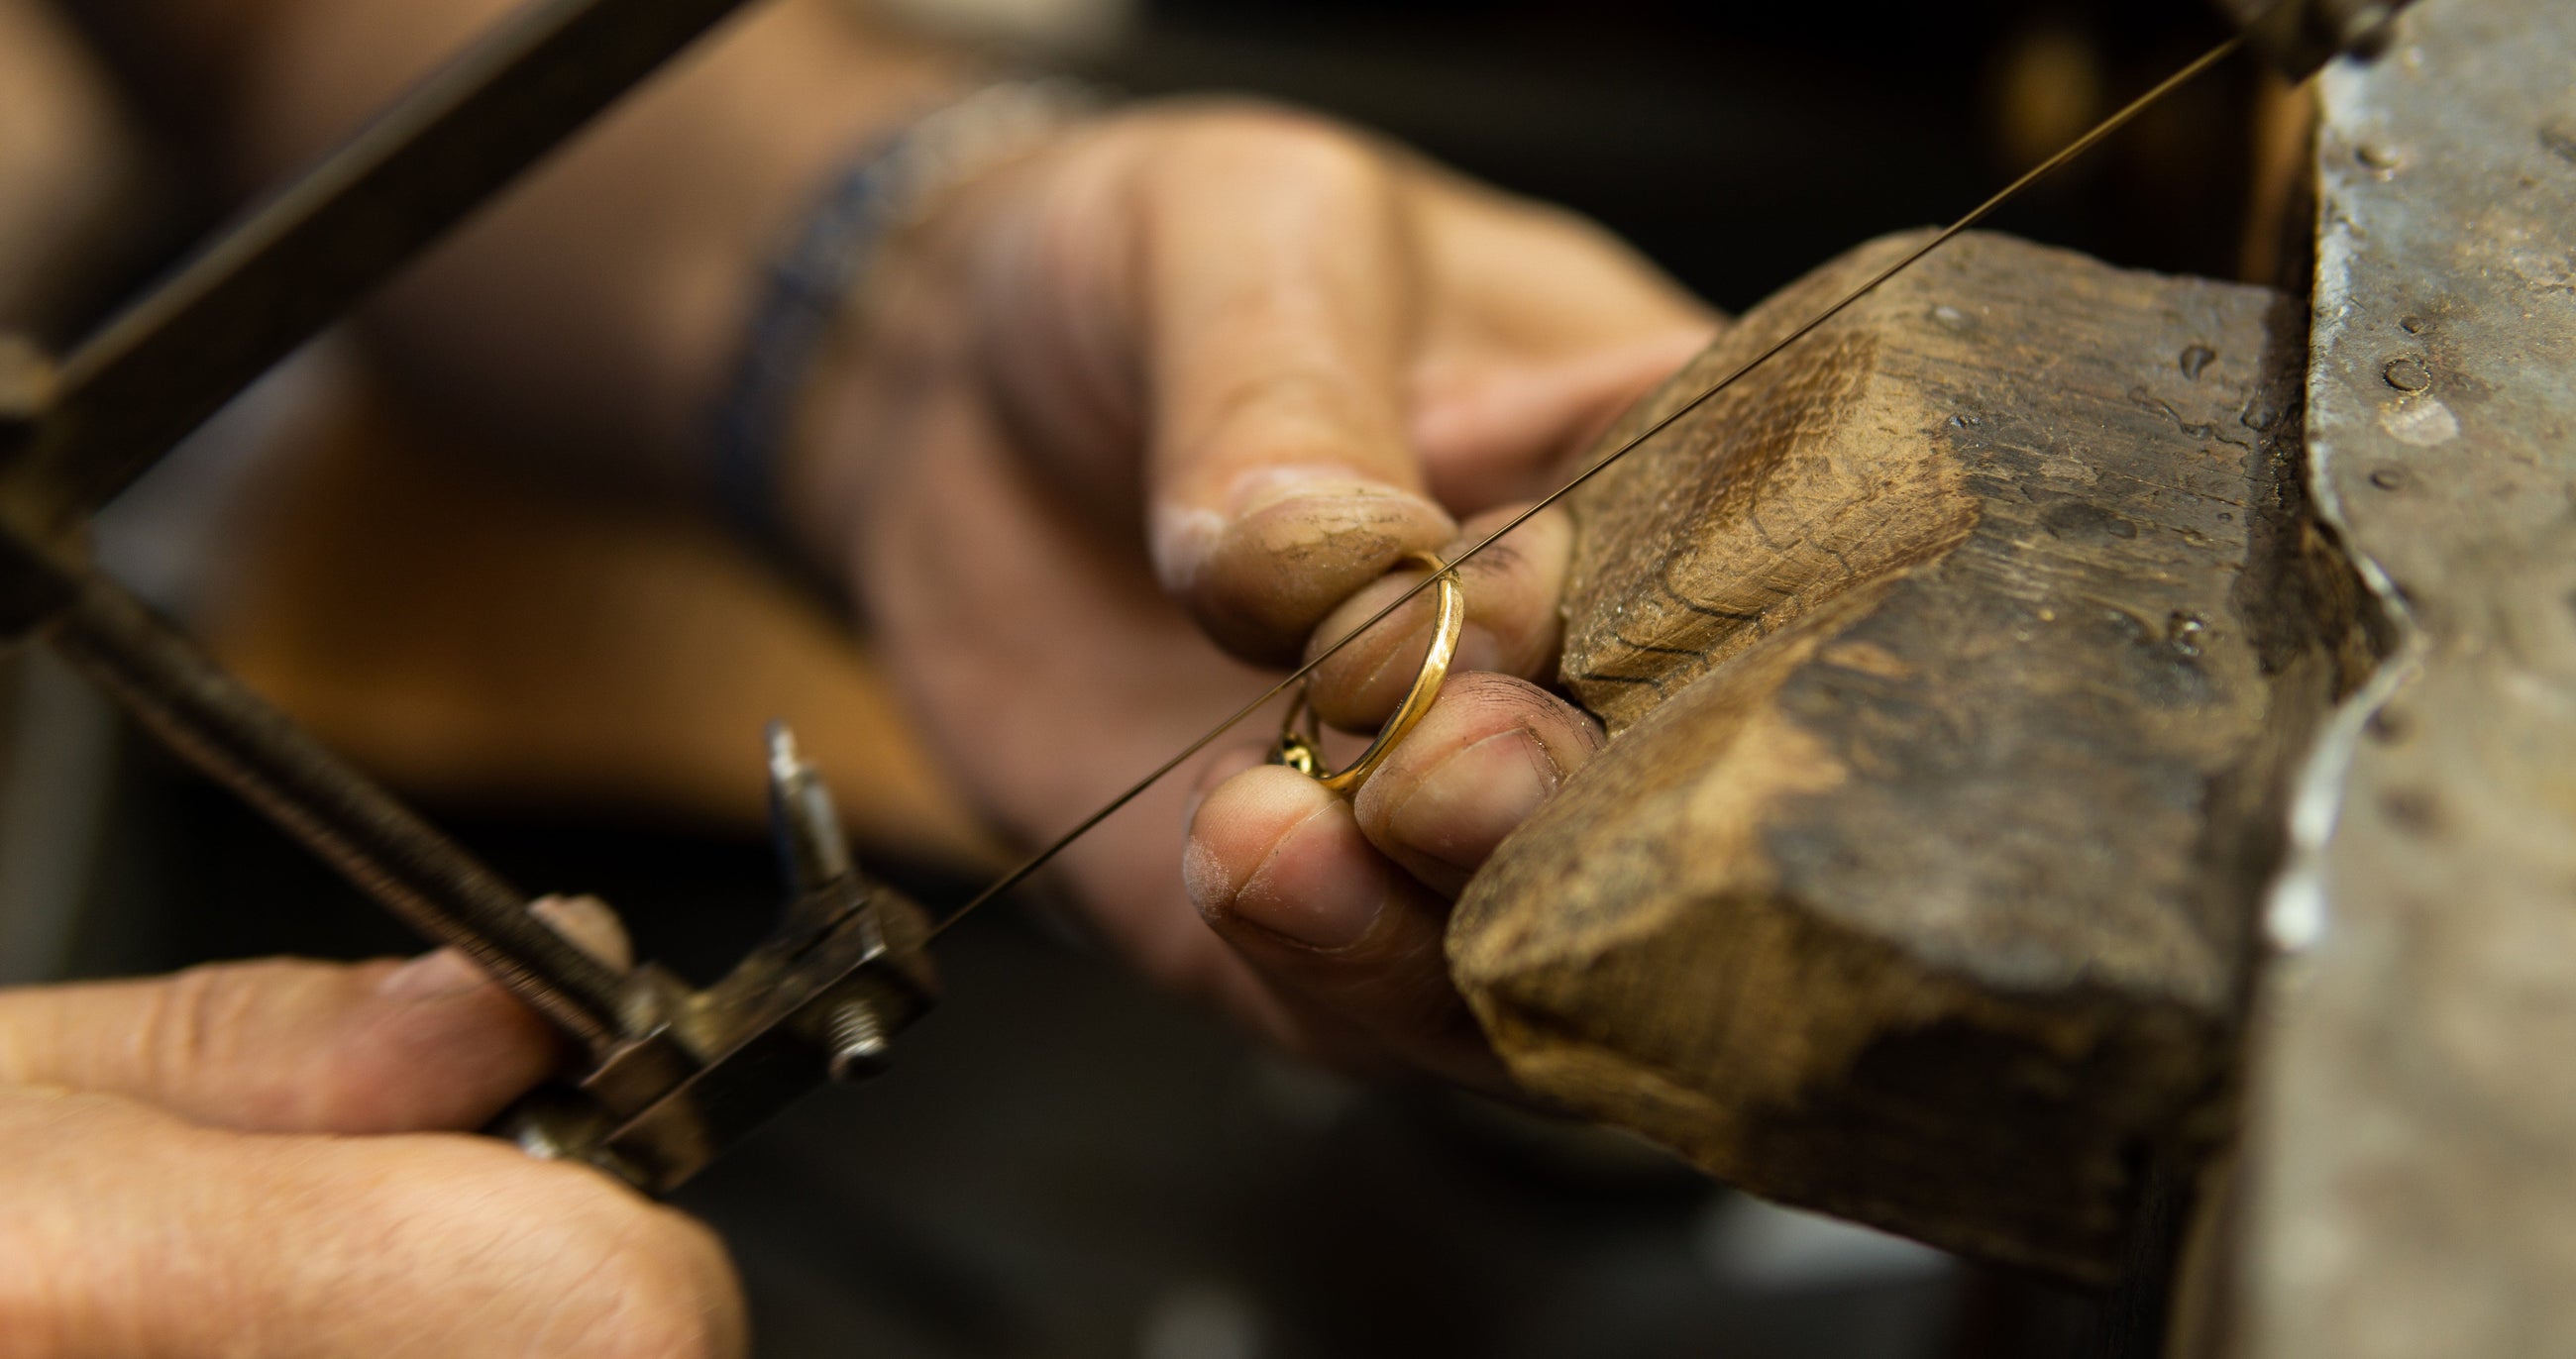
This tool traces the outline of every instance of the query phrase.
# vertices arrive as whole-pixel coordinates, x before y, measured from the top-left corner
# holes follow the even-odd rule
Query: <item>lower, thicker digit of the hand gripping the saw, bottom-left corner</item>
[[[456,1135],[242,1135],[0,1089],[13,1359],[739,1359],[716,1238],[587,1166]]]

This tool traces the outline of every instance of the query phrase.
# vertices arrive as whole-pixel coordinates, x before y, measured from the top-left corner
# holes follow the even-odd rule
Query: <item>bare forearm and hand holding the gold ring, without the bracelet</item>
[[[510,3],[178,10],[232,51],[211,126],[258,183]],[[773,242],[963,72],[848,5],[752,10],[389,288],[371,337],[417,409],[510,430],[482,443],[690,489]],[[786,512],[961,782],[1033,844],[1383,602],[1406,551],[1543,494],[1718,324],[1579,219],[1249,103],[1095,118],[930,208],[817,365]],[[1458,674],[1355,800],[1218,752],[1066,855],[1087,916],[1291,1048],[1499,1081],[1440,934],[1597,744],[1530,685],[1566,556],[1546,515],[1461,571]],[[1381,721],[1427,618],[1337,656],[1324,718]]]

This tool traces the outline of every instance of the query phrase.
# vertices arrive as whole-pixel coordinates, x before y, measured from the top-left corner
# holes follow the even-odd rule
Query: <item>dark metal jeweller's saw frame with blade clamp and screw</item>
[[[2367,41],[2403,0],[2221,3],[2300,72]],[[0,340],[0,638],[52,641],[160,741],[580,1040],[585,1068],[523,1102],[500,1130],[652,1192],[685,1181],[796,1094],[876,1071],[891,1035],[935,994],[920,911],[850,862],[829,798],[786,734],[770,739],[773,824],[791,883],[778,932],[703,991],[657,965],[618,973],[536,921],[523,893],[93,571],[85,522],[232,394],[734,5],[541,0],[59,365]],[[1036,862],[1043,855],[976,901]]]

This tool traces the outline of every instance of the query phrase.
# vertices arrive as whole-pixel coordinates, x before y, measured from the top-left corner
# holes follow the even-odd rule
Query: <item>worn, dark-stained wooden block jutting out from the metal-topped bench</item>
[[[1450,929],[1520,1081],[1767,1197],[2112,1271],[2226,1099],[2336,687],[2303,340],[2264,288],[1963,237],[1589,486],[1561,677],[1613,744]]]

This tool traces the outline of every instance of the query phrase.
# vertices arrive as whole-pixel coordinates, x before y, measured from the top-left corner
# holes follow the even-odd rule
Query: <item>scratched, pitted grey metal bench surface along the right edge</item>
[[[2576,5],[2324,77],[2311,481],[2396,620],[2303,780],[2239,1351],[2576,1346]]]

